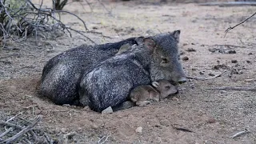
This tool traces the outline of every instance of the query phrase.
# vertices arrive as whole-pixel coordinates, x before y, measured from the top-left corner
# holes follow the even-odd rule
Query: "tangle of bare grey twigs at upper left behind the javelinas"
[[[58,36],[66,31],[70,34],[70,37],[72,37],[70,31],[74,31],[95,43],[85,34],[82,34],[83,31],[74,30],[60,20],[61,13],[73,15],[82,22],[85,30],[88,31],[86,22],[76,14],[65,10],[55,10],[55,8],[45,8],[42,6],[43,0],[40,5],[35,5],[30,0],[17,1],[15,2],[16,7],[10,7],[8,2],[0,0],[0,38],[2,38],[3,46],[9,40],[20,43],[29,36],[34,36],[38,40],[38,36],[43,38],[46,38],[45,34]]]

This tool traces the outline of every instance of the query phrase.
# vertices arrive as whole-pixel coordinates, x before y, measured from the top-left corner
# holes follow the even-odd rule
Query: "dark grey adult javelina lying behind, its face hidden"
[[[78,105],[78,86],[84,70],[110,58],[124,44],[138,44],[135,38],[98,46],[78,46],[58,54],[42,70],[39,93],[58,105]]]

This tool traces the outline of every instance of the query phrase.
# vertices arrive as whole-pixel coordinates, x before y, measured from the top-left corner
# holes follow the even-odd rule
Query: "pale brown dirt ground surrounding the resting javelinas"
[[[179,86],[180,93],[174,98],[114,114],[98,114],[88,107],[56,106],[39,98],[36,91],[42,68],[50,58],[91,43],[82,40],[79,34],[73,38],[64,35],[55,40],[42,39],[40,48],[28,46],[34,45],[31,40],[23,46],[10,44],[0,52],[2,112],[8,115],[22,112],[24,117],[42,114],[39,126],[53,138],[76,132],[69,137],[70,143],[97,143],[102,137],[101,142],[105,139],[105,143],[256,143],[256,92],[207,90],[256,85],[256,16],[230,30],[224,38],[226,28],[249,17],[255,7],[106,2],[109,13],[97,3],[93,12],[86,2],[82,5],[72,2],[65,10],[78,14],[90,30],[106,36],[86,34],[98,44],[181,30],[182,65],[187,75],[205,78],[226,72],[205,81],[190,80]],[[62,14],[62,21],[82,29],[82,23],[68,14]],[[141,133],[135,131],[139,126]],[[231,138],[243,130],[250,132]]]

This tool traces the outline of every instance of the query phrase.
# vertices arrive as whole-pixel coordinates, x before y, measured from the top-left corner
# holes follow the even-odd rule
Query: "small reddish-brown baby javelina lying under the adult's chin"
[[[170,84],[166,79],[152,82],[151,85],[137,86],[130,91],[130,99],[138,106],[150,104],[150,100],[158,102],[160,99],[167,98],[170,94],[176,94],[178,89]]]

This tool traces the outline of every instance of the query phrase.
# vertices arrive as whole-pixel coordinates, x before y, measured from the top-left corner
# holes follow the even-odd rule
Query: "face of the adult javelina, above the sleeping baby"
[[[180,30],[175,30],[152,37],[157,42],[150,70],[152,81],[158,79],[167,79],[178,83],[187,81],[182,64],[178,60],[179,36]]]

